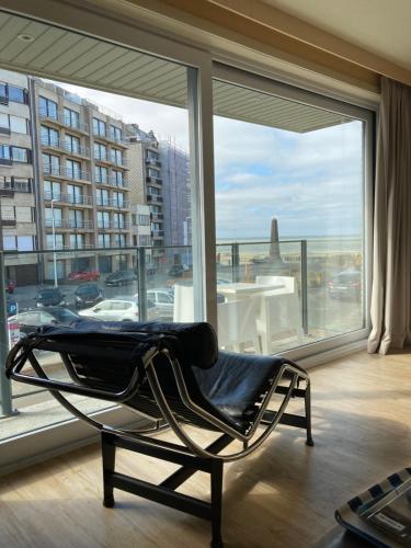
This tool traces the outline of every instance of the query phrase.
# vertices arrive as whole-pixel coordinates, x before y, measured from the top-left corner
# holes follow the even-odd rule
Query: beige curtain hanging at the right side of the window
[[[411,88],[383,78],[368,352],[411,343]]]

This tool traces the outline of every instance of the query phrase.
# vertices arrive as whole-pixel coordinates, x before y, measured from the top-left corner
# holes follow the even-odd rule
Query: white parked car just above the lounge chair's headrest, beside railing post
[[[147,301],[149,319],[157,319],[157,308],[152,300]],[[80,310],[79,315],[87,318],[104,321],[139,320],[138,299],[135,297],[124,297],[116,299],[105,299],[93,306]]]

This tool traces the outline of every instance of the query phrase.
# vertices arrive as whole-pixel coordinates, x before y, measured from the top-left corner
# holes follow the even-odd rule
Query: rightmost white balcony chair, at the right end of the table
[[[302,344],[301,310],[297,293],[267,292],[261,296],[256,331],[263,354],[272,354],[278,339],[297,336]]]

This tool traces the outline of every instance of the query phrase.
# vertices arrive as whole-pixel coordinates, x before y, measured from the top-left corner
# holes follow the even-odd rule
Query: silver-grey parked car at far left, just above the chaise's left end
[[[41,326],[70,326],[80,317],[62,307],[52,307],[47,310],[38,310],[36,308],[19,312],[9,318],[10,323],[18,323],[21,333],[28,334],[36,331]]]

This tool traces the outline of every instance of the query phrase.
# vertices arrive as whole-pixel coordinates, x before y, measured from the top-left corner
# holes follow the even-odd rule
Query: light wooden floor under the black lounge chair
[[[411,354],[355,354],[310,370],[315,447],[279,427],[226,465],[225,547],[307,547],[335,527],[333,511],[411,464]],[[118,452],[118,468],[159,481],[174,468]],[[205,498],[208,476],[183,492]],[[209,546],[209,524],[124,492],[102,506],[98,446],[0,478],[0,547]]]

